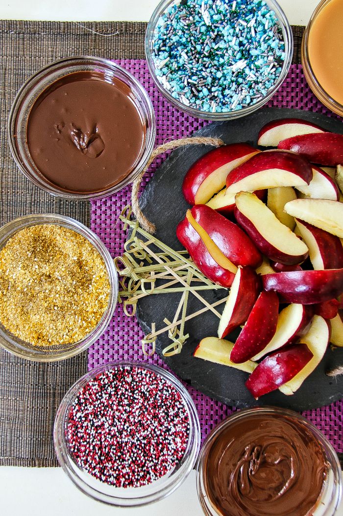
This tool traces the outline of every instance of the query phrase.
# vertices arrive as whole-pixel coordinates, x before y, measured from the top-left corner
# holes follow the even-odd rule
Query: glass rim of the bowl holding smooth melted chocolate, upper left
[[[134,169],[123,178],[117,185],[113,185],[109,188],[105,188],[104,190],[96,193],[76,193],[76,192],[66,192],[58,188],[58,186],[53,185],[52,183],[48,183],[44,180],[44,176],[40,176],[37,172],[32,168],[31,164],[26,160],[26,157],[20,152],[17,148],[17,143],[15,142],[14,135],[16,134],[16,126],[17,126],[17,116],[22,107],[24,100],[32,94],[32,88],[35,88],[40,80],[43,80],[48,74],[54,73],[57,70],[60,70],[61,67],[73,67],[73,66],[99,66],[108,68],[115,76],[117,74],[125,77],[135,94],[139,94],[141,98],[144,99],[145,104],[139,102],[139,106],[141,111],[143,112],[146,122],[148,124],[146,130],[146,141],[144,143],[144,147],[142,149],[141,156],[138,158],[138,162]],[[80,68],[78,68],[80,70]],[[70,73],[70,72],[68,72]],[[122,77],[119,77],[121,80]],[[34,100],[34,98],[32,98]],[[140,99],[138,99],[140,100]],[[135,181],[138,175],[142,172],[148,160],[151,156],[151,153],[154,148],[155,138],[156,138],[156,120],[155,120],[155,112],[148,95],[148,92],[143,88],[140,82],[132,75],[130,72],[125,70],[125,68],[121,67],[115,62],[110,61],[109,59],[103,59],[101,57],[95,56],[87,56],[87,55],[79,55],[79,56],[71,56],[63,59],[59,59],[57,61],[53,61],[49,65],[41,68],[34,74],[32,74],[23,86],[20,88],[18,93],[15,95],[12,107],[10,109],[10,114],[8,118],[8,127],[7,127],[7,137],[9,142],[10,151],[12,157],[17,164],[18,168],[21,172],[26,176],[26,178],[34,183],[36,186],[39,186],[42,190],[50,193],[50,195],[59,197],[61,199],[69,199],[69,200],[90,200],[90,199],[98,199],[101,197],[107,197],[113,195],[118,192],[128,184]],[[24,165],[23,162],[24,161]],[[27,169],[26,169],[27,167]]]

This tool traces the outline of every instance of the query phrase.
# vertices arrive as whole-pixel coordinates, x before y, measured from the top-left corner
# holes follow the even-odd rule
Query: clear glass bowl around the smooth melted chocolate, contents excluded
[[[101,72],[128,85],[133,101],[145,126],[145,139],[132,170],[119,183],[97,192],[69,192],[44,177],[32,160],[26,141],[27,119],[38,96],[57,79],[73,72]],[[110,196],[132,183],[143,170],[152,153],[156,136],[155,114],[148,93],[137,79],[116,63],[99,57],[77,56],[51,63],[32,75],[15,97],[8,120],[8,141],[12,156],[23,174],[35,185],[64,199],[86,200]]]

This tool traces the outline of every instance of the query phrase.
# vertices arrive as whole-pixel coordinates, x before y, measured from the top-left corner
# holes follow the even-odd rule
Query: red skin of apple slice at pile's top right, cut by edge
[[[293,136],[281,140],[278,149],[297,152],[312,163],[335,167],[343,163],[343,135],[317,133]]]

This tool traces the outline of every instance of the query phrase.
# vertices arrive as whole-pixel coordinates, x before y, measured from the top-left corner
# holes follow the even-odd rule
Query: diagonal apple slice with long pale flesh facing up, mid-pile
[[[235,217],[256,247],[274,262],[295,264],[308,255],[307,246],[254,193],[236,195]]]

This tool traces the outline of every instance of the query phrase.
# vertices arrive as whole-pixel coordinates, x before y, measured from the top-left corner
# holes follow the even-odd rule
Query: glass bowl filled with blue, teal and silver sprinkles
[[[178,109],[205,120],[235,119],[249,115],[262,107],[283,83],[291,64],[293,52],[290,25],[283,10],[274,0],[256,1],[258,8],[262,9],[258,12],[262,13],[261,20],[263,20],[262,22],[258,21],[258,24],[252,18],[254,15],[252,13],[245,21],[241,20],[244,14],[243,9],[241,11],[238,9],[238,6],[242,4],[243,8],[248,10],[253,2],[233,0],[233,2],[225,3],[225,5],[231,6],[231,10],[235,11],[235,16],[238,18],[235,21],[236,30],[233,37],[231,32],[225,33],[228,25],[223,29],[223,25],[230,20],[230,13],[226,15],[226,18],[223,13],[221,17],[219,12],[214,14],[217,12],[219,4],[222,4],[220,0],[215,2],[196,0],[193,2],[191,5],[197,5],[199,12],[197,15],[191,14],[193,19],[189,22],[188,29],[183,28],[188,20],[185,21],[184,14],[180,15],[179,24],[183,27],[179,30],[181,30],[181,34],[188,30],[189,34],[177,39],[176,29],[174,25],[171,26],[174,23],[171,17],[179,6],[181,6],[180,8],[187,6],[187,2],[162,0],[150,19],[145,35],[146,60],[158,90]],[[212,9],[212,18],[209,15],[210,8]],[[266,18],[264,18],[265,13],[267,13]],[[198,14],[199,18],[200,16],[202,18],[197,26],[195,22]],[[269,16],[274,21],[274,25],[268,28],[268,23],[271,22],[269,19],[267,20]],[[217,20],[219,21],[217,22]],[[170,24],[169,28],[163,33],[167,23]],[[210,25],[211,27],[208,28]],[[219,27],[218,31],[217,27]],[[222,32],[220,33],[219,30]],[[231,30],[233,29],[230,27]],[[264,30],[262,38],[265,38],[265,41],[267,41],[266,38],[270,38],[269,49],[272,49],[273,55],[269,54],[268,57],[266,50],[268,47],[262,38],[259,40],[262,48],[256,46],[255,36],[262,30]],[[277,31],[279,31],[279,40],[276,35]],[[207,38],[200,44],[199,40],[194,38],[201,37],[201,33],[204,33]],[[207,35],[207,33],[209,34]],[[161,34],[164,40],[161,40]],[[249,41],[243,38],[247,34]],[[188,41],[191,41],[191,44],[188,43],[187,47]],[[277,46],[282,41],[284,48]],[[250,44],[253,47],[249,47],[247,57],[247,53],[244,54],[244,52]],[[187,52],[190,50],[193,54],[189,58]],[[215,55],[216,63],[210,62],[206,54]],[[277,55],[279,57],[276,58]],[[229,60],[233,64],[228,65]],[[259,83],[258,73],[263,66],[266,68],[263,72],[263,80]],[[220,99],[225,102],[225,105],[220,104]]]

